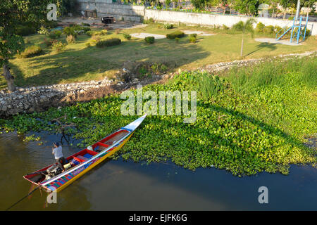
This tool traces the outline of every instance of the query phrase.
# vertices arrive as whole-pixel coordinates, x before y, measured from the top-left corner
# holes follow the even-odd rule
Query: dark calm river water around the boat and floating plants
[[[29,192],[23,175],[54,162],[47,146],[61,136],[41,136],[42,146],[15,133],[0,135],[0,210]],[[64,155],[78,150],[63,147]],[[258,201],[260,186],[268,188],[268,204]],[[292,166],[287,176],[263,172],[239,178],[215,168],[193,172],[173,162],[108,160],[57,193],[56,204],[46,204],[47,194],[37,190],[11,210],[317,210],[316,190],[317,169],[310,166]]]

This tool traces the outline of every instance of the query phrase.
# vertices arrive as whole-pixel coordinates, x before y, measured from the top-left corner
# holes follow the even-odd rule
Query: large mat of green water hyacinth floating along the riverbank
[[[316,134],[317,90],[305,78],[316,79],[316,71],[308,68],[315,64],[316,58],[308,57],[277,62],[270,74],[264,63],[232,70],[235,77],[231,72],[228,77],[181,72],[168,84],[144,86],[144,92],[155,93],[196,90],[197,120],[185,124],[183,115],[149,115],[115,158],[171,161],[188,169],[216,167],[239,176],[263,171],[287,174],[291,164],[316,165],[316,151],[303,144],[306,135]],[[246,84],[251,84],[250,89]],[[121,115],[123,102],[117,95],[106,96],[61,110],[16,115],[0,124],[6,131],[19,133],[54,132],[56,124],[49,122],[66,114],[67,122],[76,124],[67,133],[82,140],[84,147],[139,117]]]

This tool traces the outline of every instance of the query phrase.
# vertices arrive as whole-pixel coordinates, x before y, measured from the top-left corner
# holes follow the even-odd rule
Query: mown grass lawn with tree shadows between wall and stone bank
[[[198,36],[197,43],[191,44],[187,37],[179,43],[170,39],[156,39],[154,44],[146,44],[144,39],[123,39],[123,32],[147,32],[168,34],[175,30],[201,30],[217,32],[213,36]],[[77,37],[75,44],[66,46],[66,50],[55,53],[43,44],[43,34],[28,37],[27,46],[37,44],[42,46],[45,54],[32,58],[15,58],[10,61],[15,84],[18,86],[33,86],[98,80],[112,77],[126,60],[151,61],[167,63],[170,69],[194,69],[211,63],[240,59],[242,34],[226,34],[206,27],[186,27],[181,25],[171,30],[159,28],[158,24],[147,27],[121,30],[120,33],[108,31],[103,39],[119,37],[123,43],[98,49],[87,47],[85,42],[90,37],[82,34]],[[63,34],[60,40],[65,41]],[[244,58],[261,58],[276,56],[283,53],[299,53],[317,49],[316,37],[310,37],[302,46],[286,46],[280,44],[265,44],[254,41],[250,36],[244,39]],[[0,88],[6,87],[6,81],[0,77]]]

